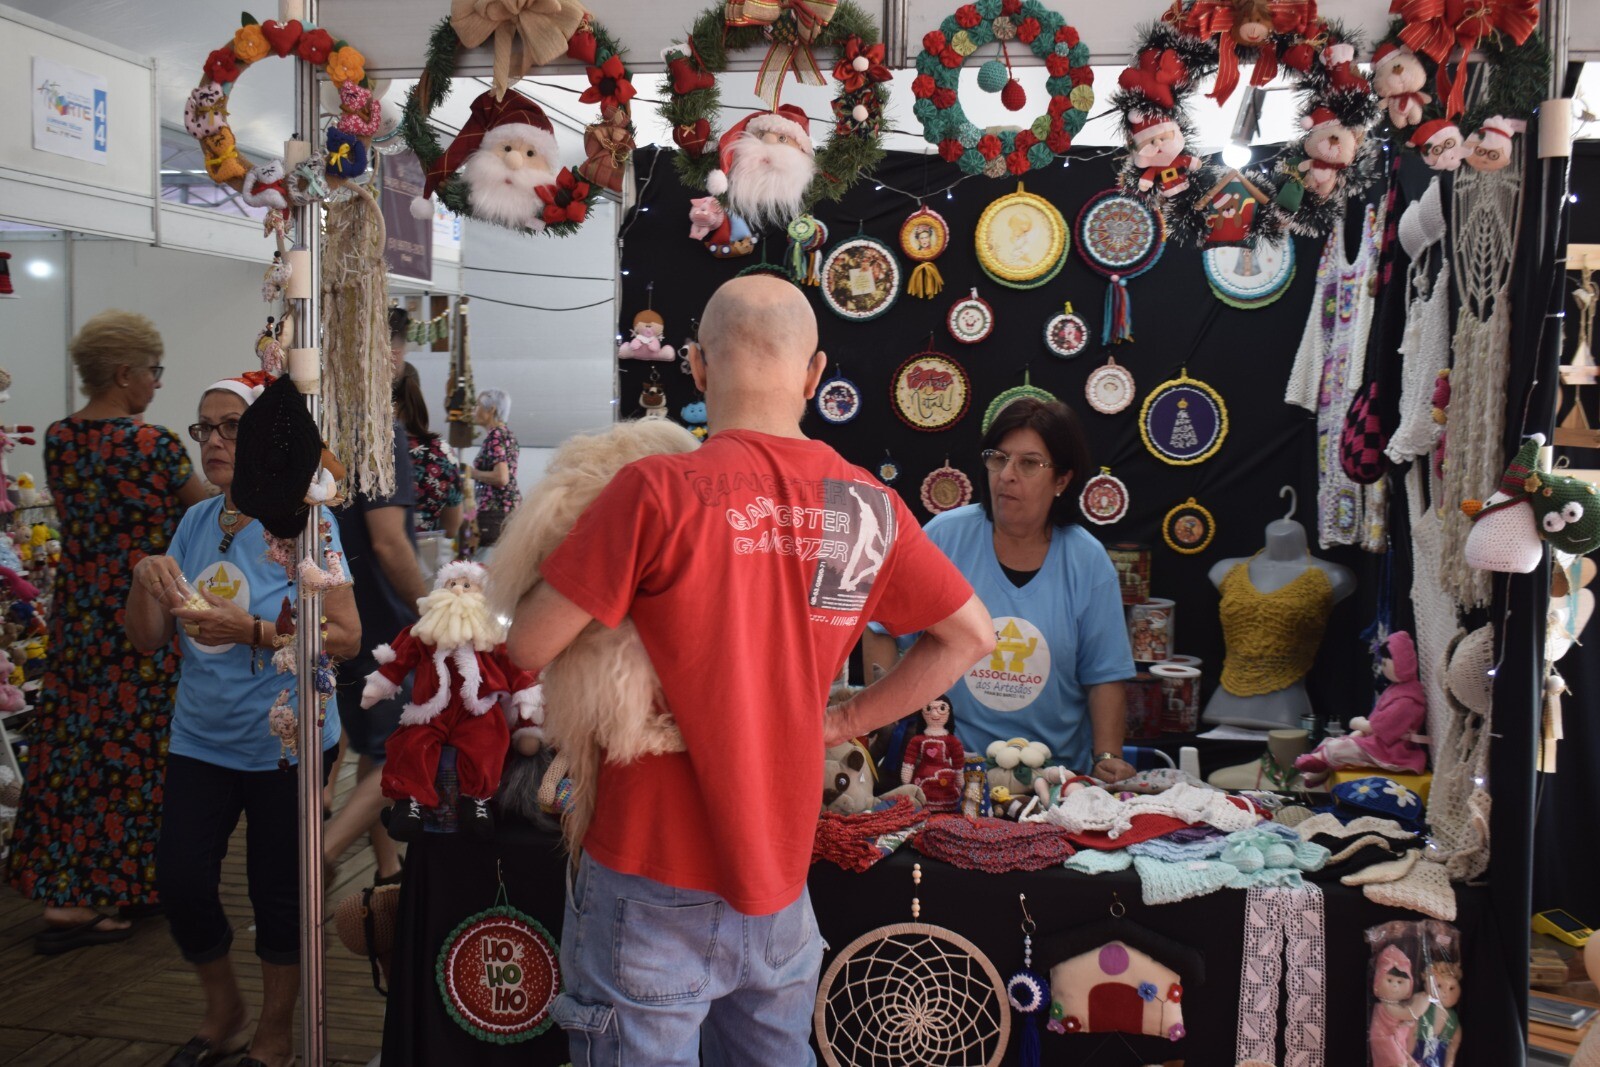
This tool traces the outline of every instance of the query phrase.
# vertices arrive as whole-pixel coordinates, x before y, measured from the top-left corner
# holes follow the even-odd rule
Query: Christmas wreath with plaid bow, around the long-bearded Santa
[[[814,48],[838,54],[834,80],[834,128],[816,150],[816,176],[805,192],[805,210],[838,200],[883,158],[883,109],[890,99],[890,69],[872,16],[851,0],[734,2],[707,8],[694,19],[688,40],[666,50],[667,77],[661,85],[661,117],[682,149],[678,181],[706,189],[722,163],[712,126],[722,110],[717,75],[728,69],[728,53],[766,42],[766,58],[755,93],[776,112],[782,78],[794,70],[800,82],[826,85]],[[707,152],[707,146],[714,150]],[[722,194],[718,194],[722,195]]]

